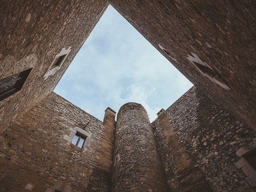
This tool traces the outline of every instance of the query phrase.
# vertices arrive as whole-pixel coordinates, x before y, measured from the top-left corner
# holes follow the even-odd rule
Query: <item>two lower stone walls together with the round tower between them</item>
[[[254,130],[197,88],[151,124],[140,104],[115,114],[107,108],[102,122],[52,92],[1,133],[0,191],[256,191],[236,163]],[[90,151],[66,140],[76,127]]]

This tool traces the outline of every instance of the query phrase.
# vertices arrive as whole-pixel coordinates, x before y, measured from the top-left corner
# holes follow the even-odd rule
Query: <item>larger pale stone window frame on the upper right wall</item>
[[[226,90],[230,90],[230,88],[223,82],[223,80],[218,76],[218,74],[216,74],[216,72],[214,72],[214,70],[210,67],[210,65],[208,65],[206,62],[203,62],[196,54],[194,54],[194,53],[191,53],[191,54],[192,54],[192,56],[188,55],[187,58],[201,74],[208,77],[212,82],[218,84],[222,88],[224,88]],[[211,75],[207,74],[206,72],[204,72],[202,69],[200,69],[200,67],[198,67],[198,65],[196,63],[207,68],[209,71],[212,71],[214,73],[214,76],[211,76]]]

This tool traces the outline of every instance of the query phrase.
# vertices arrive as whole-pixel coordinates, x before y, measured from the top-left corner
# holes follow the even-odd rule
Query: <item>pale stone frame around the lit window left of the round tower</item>
[[[76,134],[80,134],[82,136],[84,136],[86,139],[84,141],[84,145],[82,146],[82,148],[72,144],[72,140],[74,138],[74,136]],[[92,148],[90,147],[90,144],[92,142],[92,135],[89,134],[88,132],[86,132],[85,130],[82,130],[81,128],[79,127],[75,127],[75,128],[70,128],[69,129],[69,135],[64,135],[64,140],[68,141],[67,145],[69,146],[72,146],[74,148],[76,148],[77,150],[80,150],[82,152],[91,152],[92,151]]]

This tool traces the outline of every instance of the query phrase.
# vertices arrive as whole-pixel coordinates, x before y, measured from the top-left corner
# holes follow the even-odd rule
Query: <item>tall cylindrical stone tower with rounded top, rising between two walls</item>
[[[166,192],[166,185],[146,110],[124,104],[117,115],[112,192]]]

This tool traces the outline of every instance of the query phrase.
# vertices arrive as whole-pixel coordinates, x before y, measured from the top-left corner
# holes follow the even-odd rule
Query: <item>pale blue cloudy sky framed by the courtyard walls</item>
[[[100,120],[108,106],[137,102],[152,122],[192,86],[109,6],[54,91]]]

